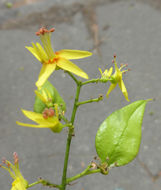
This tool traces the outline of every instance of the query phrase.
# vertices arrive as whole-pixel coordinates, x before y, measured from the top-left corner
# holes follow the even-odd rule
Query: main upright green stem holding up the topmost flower
[[[80,94],[80,89],[81,89],[81,82],[79,82],[70,72],[67,72],[67,73],[73,78],[73,80],[77,84],[76,96],[75,96],[72,116],[71,116],[71,120],[70,120],[71,124],[73,125],[74,124],[74,120],[75,120],[76,111],[77,111],[77,108],[78,108],[77,102],[79,100],[79,94]],[[68,160],[69,160],[70,144],[71,144],[73,133],[74,133],[74,128],[69,128],[68,138],[67,138],[67,142],[66,142],[66,152],[65,152],[65,158],[64,158],[64,168],[63,168],[61,190],[65,190],[66,189],[67,167],[68,167]]]

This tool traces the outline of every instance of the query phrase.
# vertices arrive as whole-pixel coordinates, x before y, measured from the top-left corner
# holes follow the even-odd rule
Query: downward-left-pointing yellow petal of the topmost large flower
[[[43,64],[36,86],[40,88],[55,70],[56,64]]]

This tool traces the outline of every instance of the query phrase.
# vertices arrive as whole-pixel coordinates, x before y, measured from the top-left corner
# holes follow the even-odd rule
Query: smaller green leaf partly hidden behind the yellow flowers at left
[[[60,96],[57,89],[49,81],[46,81],[42,86],[41,90],[38,90],[40,94],[42,94],[43,89],[47,89],[49,91],[49,93],[52,96],[53,104],[58,104],[59,108],[62,111],[66,111],[66,104],[63,98]],[[42,113],[46,107],[47,107],[46,104],[38,96],[36,96],[34,103],[34,111],[37,113]]]

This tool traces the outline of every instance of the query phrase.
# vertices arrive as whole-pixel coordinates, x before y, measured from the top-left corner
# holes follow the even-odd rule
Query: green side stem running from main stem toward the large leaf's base
[[[93,174],[93,173],[100,173],[100,169],[95,169],[95,170],[89,170],[90,168],[87,167],[83,172],[73,176],[73,177],[70,177],[67,179],[67,184],[69,184],[70,182],[76,180],[76,179],[79,179],[83,176],[86,176],[86,175],[90,175],[90,174]]]

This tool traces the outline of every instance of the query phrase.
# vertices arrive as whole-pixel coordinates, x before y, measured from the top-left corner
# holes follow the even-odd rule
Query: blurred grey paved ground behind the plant
[[[98,67],[105,68],[117,53],[118,61],[131,68],[124,76],[130,100],[155,98],[147,105],[139,156],[129,165],[111,170],[108,176],[84,177],[68,189],[161,190],[161,1],[13,0],[10,9],[6,2],[0,2],[0,157],[11,160],[16,151],[30,183],[38,177],[55,183],[61,179],[67,131],[57,135],[15,124],[16,120],[24,121],[20,108],[32,109],[34,83],[40,71],[40,64],[24,47],[37,40],[34,33],[41,25],[54,26],[55,49],[93,51],[91,58],[77,61],[91,78],[97,77]],[[50,80],[67,102],[69,116],[75,93],[73,81],[62,71]],[[105,94],[107,88],[86,86],[81,100]],[[126,104],[117,88],[109,99],[80,107],[68,176],[82,171],[93,159],[99,124]],[[1,190],[10,189],[9,179],[1,169]],[[32,189],[48,188],[37,185]]]

